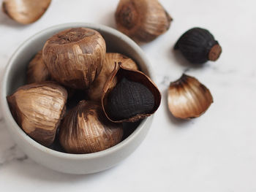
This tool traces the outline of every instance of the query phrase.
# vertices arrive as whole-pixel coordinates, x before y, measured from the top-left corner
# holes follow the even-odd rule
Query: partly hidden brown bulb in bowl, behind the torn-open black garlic
[[[131,58],[124,56],[120,53],[106,53],[105,60],[102,65],[102,71],[99,73],[99,76],[92,83],[88,90],[88,96],[91,100],[100,101],[102,96],[102,89],[105,85],[105,82],[108,80],[111,72],[115,68],[115,63],[121,62],[122,65],[128,69],[138,70],[137,64],[132,61]]]

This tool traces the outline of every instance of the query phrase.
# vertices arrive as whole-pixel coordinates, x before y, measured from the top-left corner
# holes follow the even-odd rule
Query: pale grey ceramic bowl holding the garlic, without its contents
[[[12,55],[7,64],[1,85],[1,112],[12,138],[31,159],[59,172],[89,174],[108,169],[127,158],[143,141],[153,116],[143,120],[135,131],[118,145],[90,154],[69,154],[44,147],[31,139],[15,122],[7,104],[6,96],[25,84],[26,66],[31,58],[42,49],[45,41],[66,28],[87,27],[99,31],[105,39],[108,52],[123,53],[134,59],[140,69],[151,77],[149,62],[143,51],[129,37],[113,28],[89,23],[67,23],[50,27],[26,40]]]

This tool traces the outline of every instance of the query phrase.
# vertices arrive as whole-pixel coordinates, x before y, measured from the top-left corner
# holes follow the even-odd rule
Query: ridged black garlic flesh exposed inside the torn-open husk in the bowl
[[[110,118],[120,120],[137,114],[150,113],[154,108],[154,96],[140,82],[123,78],[108,96],[107,111]]]

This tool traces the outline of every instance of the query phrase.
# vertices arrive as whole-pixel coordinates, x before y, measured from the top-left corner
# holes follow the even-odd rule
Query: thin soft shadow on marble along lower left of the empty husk
[[[187,127],[187,126],[181,126],[181,125],[187,125],[189,123],[192,123],[191,120],[183,120],[183,119],[178,119],[178,118],[175,118],[172,113],[170,112],[169,108],[168,108],[168,101],[167,101],[167,96],[168,96],[168,88],[165,89],[165,91],[162,91],[162,100],[165,99],[165,101],[162,102],[162,104],[165,105],[165,112],[168,116],[168,118],[170,119],[170,121],[174,124],[176,124],[178,126],[178,128],[184,128],[184,127]]]

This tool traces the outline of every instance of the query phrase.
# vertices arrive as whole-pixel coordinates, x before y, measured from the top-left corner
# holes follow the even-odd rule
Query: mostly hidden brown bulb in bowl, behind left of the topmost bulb
[[[44,82],[50,80],[50,73],[42,60],[42,50],[29,62],[26,81],[27,83]]]

